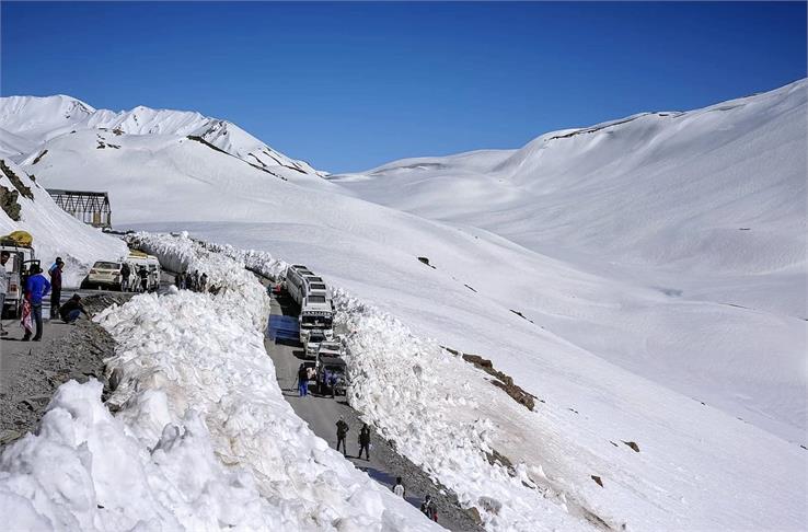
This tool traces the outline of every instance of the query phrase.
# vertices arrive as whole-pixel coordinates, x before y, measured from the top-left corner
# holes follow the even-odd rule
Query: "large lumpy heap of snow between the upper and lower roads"
[[[293,414],[264,350],[268,297],[242,265],[187,238],[142,239],[223,290],[138,296],[95,317],[117,343],[120,409],[94,380],[59,388],[38,433],[0,458],[10,530],[439,530]]]

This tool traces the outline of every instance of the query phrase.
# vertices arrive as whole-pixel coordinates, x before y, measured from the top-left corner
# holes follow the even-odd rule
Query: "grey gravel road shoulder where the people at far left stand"
[[[113,303],[124,303],[130,297],[129,293],[99,294],[84,298],[83,302],[88,312],[95,313]],[[46,339],[25,343],[18,363],[3,375],[7,384],[0,390],[0,448],[36,429],[50,397],[62,383],[94,378],[104,382],[103,398],[109,392],[104,359],[115,352],[112,336],[83,316],[73,325],[64,325],[69,331],[51,339],[47,339],[48,326],[46,323]]]

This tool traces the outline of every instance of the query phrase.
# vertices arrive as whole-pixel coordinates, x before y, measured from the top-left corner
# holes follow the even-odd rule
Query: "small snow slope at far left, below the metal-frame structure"
[[[8,159],[3,162],[20,181],[31,189],[33,199],[19,194],[20,221],[12,220],[0,210],[0,234],[24,230],[33,236],[36,258],[43,268],[50,266],[57,256],[65,261],[64,284],[78,287],[90,267],[99,259],[117,259],[127,253],[120,240],[105,235],[61,210],[50,195],[20,166]],[[11,178],[0,172],[0,186],[16,190]]]

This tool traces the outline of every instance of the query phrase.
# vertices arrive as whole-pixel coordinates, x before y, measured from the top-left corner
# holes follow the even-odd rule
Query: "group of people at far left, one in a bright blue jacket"
[[[8,251],[0,252],[0,309],[5,304],[5,294],[9,291],[9,276],[5,271],[5,264],[9,262],[11,254]],[[24,329],[23,342],[34,340],[41,342],[44,332],[44,322],[42,316],[42,305],[45,298],[50,296],[50,320],[61,317],[66,323],[72,323],[79,319],[82,313],[86,315],[86,311],[81,303],[81,297],[77,293],[70,298],[65,304],[61,304],[61,274],[65,269],[65,262],[61,257],[56,257],[54,264],[48,268],[48,277],[45,277],[38,264],[31,265],[24,276],[22,286],[22,317],[20,324]],[[0,320],[0,336],[8,336],[9,332],[3,327]],[[33,338],[32,338],[33,335]]]

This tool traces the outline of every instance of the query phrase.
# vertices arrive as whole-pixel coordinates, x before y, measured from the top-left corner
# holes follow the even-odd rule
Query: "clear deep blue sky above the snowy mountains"
[[[328,171],[806,77],[805,3],[0,5],[2,95],[195,109]]]

